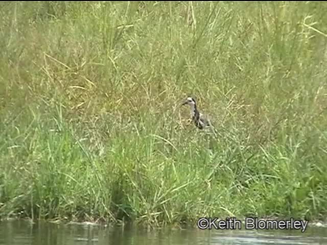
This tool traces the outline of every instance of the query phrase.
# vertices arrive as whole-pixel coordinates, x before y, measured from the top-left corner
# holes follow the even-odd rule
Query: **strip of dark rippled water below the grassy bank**
[[[89,244],[327,244],[327,228],[300,231],[249,230],[156,230],[64,225],[24,220],[0,222],[0,245],[89,245]]]

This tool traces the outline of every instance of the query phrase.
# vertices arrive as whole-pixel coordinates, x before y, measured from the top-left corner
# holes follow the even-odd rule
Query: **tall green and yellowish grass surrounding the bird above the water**
[[[327,215],[323,2],[0,4],[0,215]],[[193,95],[218,137],[189,124]]]

